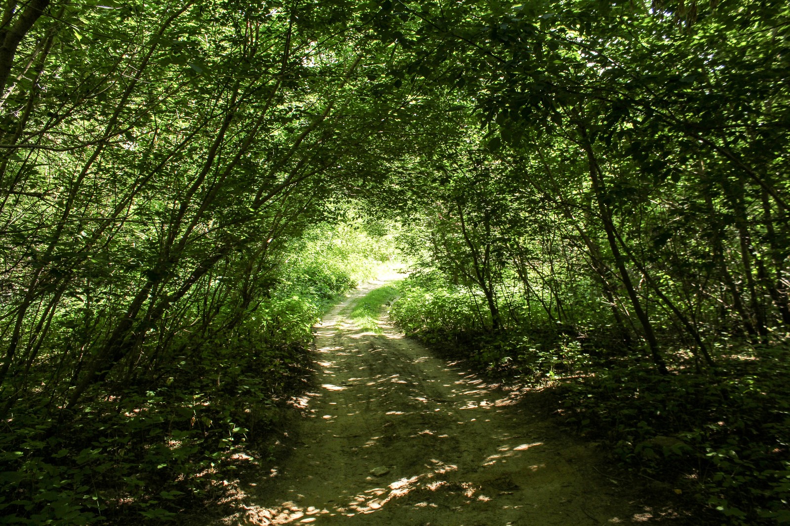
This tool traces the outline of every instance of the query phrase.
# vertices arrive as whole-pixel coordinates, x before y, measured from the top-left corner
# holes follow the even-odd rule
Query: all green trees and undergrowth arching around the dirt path
[[[205,498],[397,222],[405,328],[788,521],[787,2],[0,11],[9,520]]]

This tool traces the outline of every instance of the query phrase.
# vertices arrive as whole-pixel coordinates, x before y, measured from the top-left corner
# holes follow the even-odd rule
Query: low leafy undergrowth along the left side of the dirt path
[[[272,455],[309,374],[312,325],[392,255],[386,240],[318,227],[245,285],[251,301],[195,302],[191,324],[144,342],[134,368],[72,408],[46,389],[62,352],[47,350],[42,388],[0,421],[0,523],[159,524],[228,498],[239,470]]]

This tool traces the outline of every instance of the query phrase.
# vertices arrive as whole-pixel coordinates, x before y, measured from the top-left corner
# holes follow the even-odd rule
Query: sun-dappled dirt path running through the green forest
[[[517,393],[435,358],[382,316],[347,319],[367,284],[315,329],[314,388],[294,450],[235,524],[585,526],[649,520]],[[622,483],[621,483],[622,484]]]

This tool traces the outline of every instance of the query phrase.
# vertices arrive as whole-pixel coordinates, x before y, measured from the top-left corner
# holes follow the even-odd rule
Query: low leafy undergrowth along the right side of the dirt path
[[[547,388],[559,423],[603,443],[635,475],[661,481],[699,520],[790,524],[787,345],[723,339],[715,369],[696,373],[676,351],[663,375],[611,328],[533,317],[491,331],[476,305],[464,287],[418,276],[390,315],[448,357]],[[663,337],[669,347],[671,333]]]

